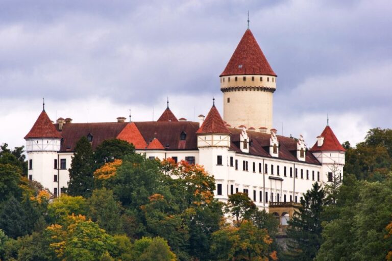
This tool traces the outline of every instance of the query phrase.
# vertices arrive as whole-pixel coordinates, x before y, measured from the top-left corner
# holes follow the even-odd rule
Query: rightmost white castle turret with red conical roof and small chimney
[[[317,136],[316,143],[309,151],[323,165],[322,181],[332,181],[334,175],[342,177],[346,150],[329,125]]]

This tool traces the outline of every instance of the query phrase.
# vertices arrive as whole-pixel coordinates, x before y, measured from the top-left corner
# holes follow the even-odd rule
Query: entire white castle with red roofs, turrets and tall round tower
[[[168,103],[157,121],[145,122],[118,117],[116,122],[72,123],[59,118],[53,123],[43,110],[24,137],[29,179],[58,196],[67,187],[73,151],[82,136],[93,149],[105,139],[117,138],[133,143],[137,153],[150,159],[203,165],[215,177],[217,199],[248,193],[259,208],[273,211],[285,225],[313,182],[342,175],[345,149],[328,125],[310,149],[301,135],[277,135],[272,120],[276,85],[276,73],[247,29],[220,74],[223,118],[214,104],[206,117],[199,115],[199,122],[177,119]]]

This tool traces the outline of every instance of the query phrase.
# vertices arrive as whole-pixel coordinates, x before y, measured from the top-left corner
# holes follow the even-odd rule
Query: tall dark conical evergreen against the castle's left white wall
[[[91,144],[82,137],[76,144],[71,168],[69,169],[68,194],[71,196],[91,196],[94,179],[94,158]]]

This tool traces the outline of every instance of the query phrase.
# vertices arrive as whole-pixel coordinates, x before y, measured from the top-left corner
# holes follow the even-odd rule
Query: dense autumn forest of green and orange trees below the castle
[[[343,145],[344,178],[313,184],[282,247],[278,221],[243,193],[218,202],[201,166],[82,138],[54,198],[3,144],[0,260],[392,260],[392,130]]]

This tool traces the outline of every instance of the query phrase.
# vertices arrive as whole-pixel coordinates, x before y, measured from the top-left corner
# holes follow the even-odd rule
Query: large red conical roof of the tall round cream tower
[[[269,66],[250,29],[243,34],[229,63],[220,76],[246,74],[277,76]]]

